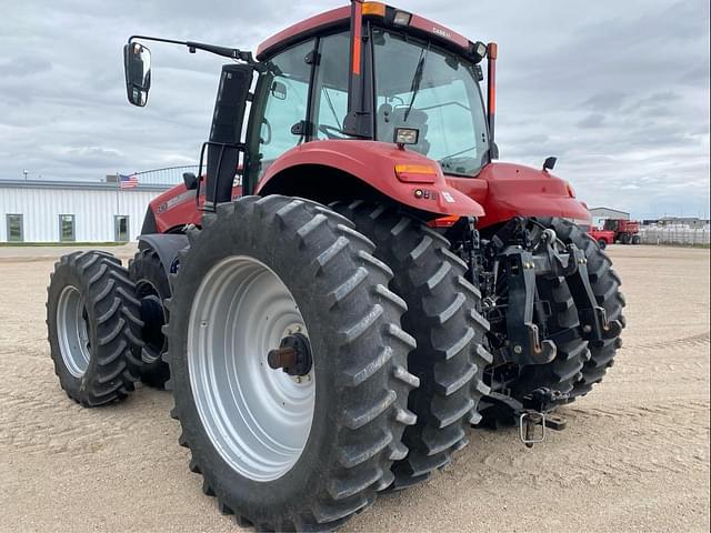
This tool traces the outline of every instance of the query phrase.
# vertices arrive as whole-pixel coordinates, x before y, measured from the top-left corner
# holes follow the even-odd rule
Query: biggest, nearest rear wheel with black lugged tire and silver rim
[[[246,197],[188,237],[167,331],[191,470],[241,524],[339,526],[392,483],[417,421],[392,271],[350,221],[307,200]],[[268,365],[289,331],[311,346],[303,376]]]

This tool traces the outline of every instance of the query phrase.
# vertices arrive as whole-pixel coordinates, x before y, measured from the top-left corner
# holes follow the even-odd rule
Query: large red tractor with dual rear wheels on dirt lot
[[[172,390],[206,494],[260,530],[331,530],[427,479],[472,424],[530,445],[621,345],[610,260],[564,180],[497,162],[497,44],[379,2],[222,67],[202,171],[150,203],[129,269],[72,253],[51,354],[86,406]],[[487,102],[480,83],[488,61]],[[475,445],[475,444],[474,444]]]

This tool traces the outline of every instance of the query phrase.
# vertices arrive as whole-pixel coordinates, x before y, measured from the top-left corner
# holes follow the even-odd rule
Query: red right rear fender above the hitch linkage
[[[512,163],[490,163],[477,178],[448,177],[448,182],[480,202],[485,215],[478,227],[504,222],[514,217],[560,217],[590,224],[590,213],[577,200],[565,180]]]

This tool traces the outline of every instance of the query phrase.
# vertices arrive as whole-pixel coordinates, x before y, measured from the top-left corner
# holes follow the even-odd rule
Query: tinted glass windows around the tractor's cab
[[[490,159],[475,58],[384,18],[368,18],[364,33],[360,83],[350,83],[348,27],[258,56],[276,72],[256,117],[259,172],[302,142],[361,139],[407,144],[445,173],[474,175]],[[361,111],[349,112],[349,84],[365,91],[351,98]]]

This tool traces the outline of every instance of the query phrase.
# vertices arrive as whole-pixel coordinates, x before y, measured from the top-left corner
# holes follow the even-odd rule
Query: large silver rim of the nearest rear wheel
[[[289,472],[311,432],[313,369],[294,378],[267,363],[269,351],[297,332],[308,336],[289,289],[244,255],[212,266],[190,310],[187,356],[198,413],[222,459],[250,480]]]

